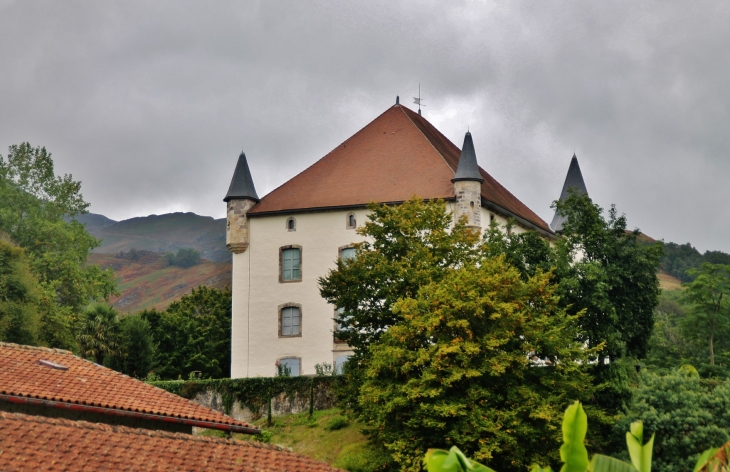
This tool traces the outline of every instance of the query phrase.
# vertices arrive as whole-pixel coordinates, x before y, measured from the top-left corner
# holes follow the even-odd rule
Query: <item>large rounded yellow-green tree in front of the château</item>
[[[564,407],[593,394],[596,352],[576,341],[550,274],[474,262],[397,301],[402,321],[370,345],[360,418],[401,470],[421,470],[430,446],[501,470],[557,462]]]

